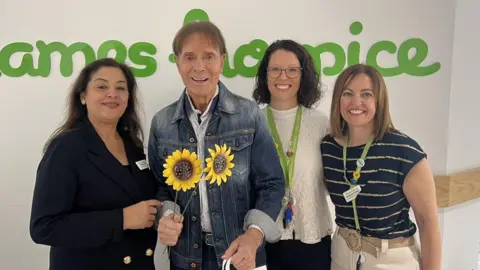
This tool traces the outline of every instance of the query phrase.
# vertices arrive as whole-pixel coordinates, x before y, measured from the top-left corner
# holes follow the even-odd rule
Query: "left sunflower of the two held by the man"
[[[190,153],[187,149],[183,149],[183,152],[176,150],[171,156],[168,156],[163,167],[165,167],[163,176],[167,177],[165,182],[173,186],[176,191],[183,190],[185,192],[200,182],[202,169],[195,152]]]

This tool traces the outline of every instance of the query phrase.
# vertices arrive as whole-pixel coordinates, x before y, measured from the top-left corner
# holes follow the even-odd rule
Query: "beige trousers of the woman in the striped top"
[[[378,258],[363,252],[360,270],[419,270],[419,254],[417,242],[411,247],[386,248]],[[331,270],[356,270],[358,255],[348,248],[337,229],[332,237]]]

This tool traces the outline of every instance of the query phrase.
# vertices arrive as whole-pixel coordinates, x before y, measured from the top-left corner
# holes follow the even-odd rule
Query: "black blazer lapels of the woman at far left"
[[[110,153],[104,142],[97,134],[93,126],[88,120],[83,121],[83,135],[85,144],[88,148],[88,157],[95,164],[95,166],[107,175],[113,183],[119,185],[125,194],[130,197],[133,202],[141,200],[140,189],[135,182],[135,168],[137,165],[132,162],[132,152],[130,143],[124,139],[125,151],[129,160],[129,165],[132,169],[132,174],[126,173],[122,164]]]

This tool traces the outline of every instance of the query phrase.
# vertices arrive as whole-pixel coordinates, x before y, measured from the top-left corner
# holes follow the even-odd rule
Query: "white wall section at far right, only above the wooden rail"
[[[476,168],[480,165],[480,99],[478,63],[480,63],[480,18],[478,0],[457,0],[455,6],[455,35],[448,122],[449,173]]]

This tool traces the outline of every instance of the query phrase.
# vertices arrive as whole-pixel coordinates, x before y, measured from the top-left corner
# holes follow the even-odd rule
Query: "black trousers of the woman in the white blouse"
[[[298,240],[281,240],[265,246],[268,270],[330,270],[332,238],[320,243],[304,244]]]

